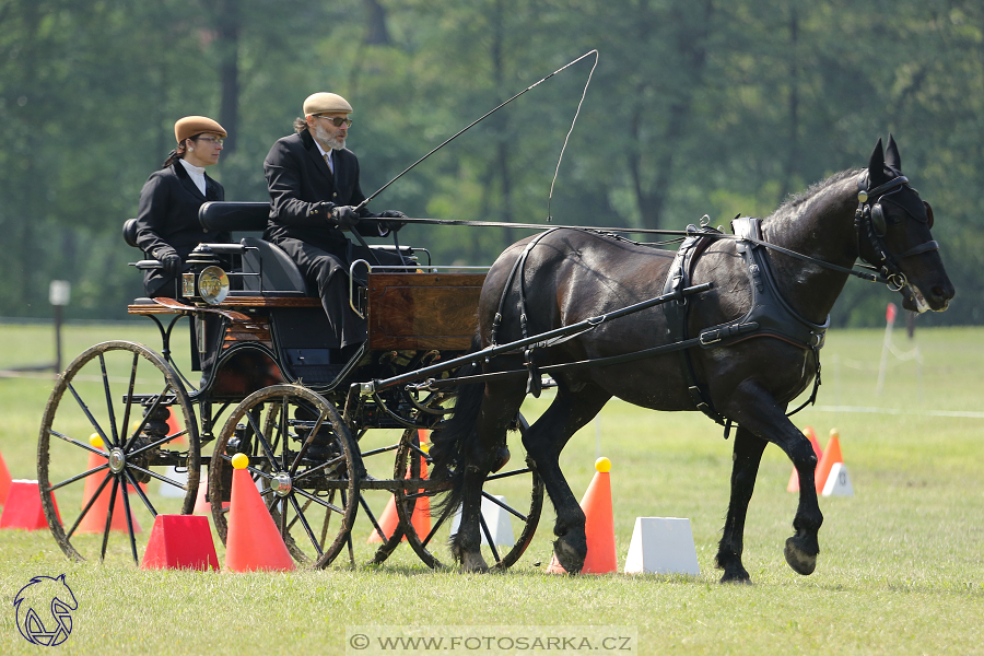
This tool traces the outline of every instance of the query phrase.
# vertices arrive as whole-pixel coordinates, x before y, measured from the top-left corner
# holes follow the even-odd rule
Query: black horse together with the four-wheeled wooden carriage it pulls
[[[259,229],[265,221],[265,204],[203,207],[209,227]],[[810,383],[816,398],[825,319],[848,276],[889,284],[907,309],[946,309],[954,290],[933,222],[890,139],[887,150],[879,140],[867,169],[835,174],[761,221],[736,219],[731,234],[708,226],[656,231],[679,237],[676,254],[610,231],[555,227],[506,249],[487,276],[430,262],[387,270],[358,261],[366,284],[350,288],[350,302],[367,319],[368,338],[341,360],[326,348],[318,300],[276,246],[245,238],[202,247],[183,281],[188,303],[138,300],[129,308],[156,323],[161,354],[105,342],[59,377],[38,444],[45,514],[70,557],[80,557],[83,544],[104,555],[116,527],[138,559],[130,495],[120,490],[132,490],[155,514],[141,484],[157,479],[180,490],[179,509],[190,513],[207,466],[212,518],[224,540],[230,461],[244,453],[298,560],[327,566],[348,543],[354,562],[358,511],[384,532],[367,501],[382,491],[393,494],[400,522],[374,562],[406,535],[432,566],[441,563],[436,549],[449,542],[450,557],[467,571],[490,561],[507,567],[532,538],[546,489],[557,508],[554,553],[578,572],[585,518],[558,458],[617,396],[656,410],[701,410],[726,426],[726,437],[735,424],[731,502],[716,557],[723,581],[749,578],[741,564],[745,516],[762,452],[770,442],[780,446],[800,479],[785,558],[810,574],[823,520],[816,456],[787,407]],[[232,272],[216,266],[220,255],[235,260]],[[868,271],[854,269],[858,258]],[[165,327],[160,317],[168,315]],[[203,370],[197,389],[171,358],[172,330],[184,316],[195,318]],[[519,407],[539,394],[544,375],[557,379],[558,393],[526,426]],[[65,402],[66,393],[74,401]],[[429,452],[421,431],[435,426]],[[522,444],[508,436],[516,433],[511,427]],[[374,444],[371,429],[401,433]],[[89,431],[92,443],[83,438]],[[376,464],[393,455],[391,469],[378,473]],[[167,467],[186,470],[187,482],[161,473]],[[508,488],[505,494],[494,493],[499,485]],[[81,492],[82,511],[62,523],[45,492],[71,487]],[[414,525],[417,506],[445,492],[433,528]],[[118,504],[124,519],[114,515]],[[485,524],[485,504],[518,525],[502,549]]]

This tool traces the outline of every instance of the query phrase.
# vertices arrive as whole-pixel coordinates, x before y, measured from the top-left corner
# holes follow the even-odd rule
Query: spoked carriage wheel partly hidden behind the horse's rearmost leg
[[[490,475],[482,488],[482,555],[493,570],[505,570],[519,560],[532,540],[543,508],[543,481],[529,457],[524,457],[522,465],[516,464],[517,456],[525,456],[520,435],[529,427],[522,414],[517,414],[516,419],[519,434],[512,431],[507,434],[512,459],[502,471]],[[397,450],[395,478],[406,472],[412,460],[430,459],[425,449],[421,448],[415,432],[406,437]],[[458,509],[447,508],[433,517],[427,535],[420,535],[412,520],[413,504],[423,499],[430,500],[435,494],[434,491],[408,489],[397,490],[394,496],[407,541],[424,563],[436,569],[444,566],[441,559],[445,563],[452,562],[447,544],[457,531]],[[438,550],[443,552],[440,558]]]

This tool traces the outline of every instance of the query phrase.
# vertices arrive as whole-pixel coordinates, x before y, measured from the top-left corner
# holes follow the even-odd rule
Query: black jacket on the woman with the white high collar
[[[162,246],[171,246],[185,260],[201,243],[229,242],[227,232],[208,231],[198,222],[198,208],[209,200],[225,200],[225,190],[208,174],[202,195],[180,162],[155,171],[140,191],[137,245],[154,258]],[[149,295],[160,291],[169,296],[174,278],[160,270],[144,271],[143,286]]]

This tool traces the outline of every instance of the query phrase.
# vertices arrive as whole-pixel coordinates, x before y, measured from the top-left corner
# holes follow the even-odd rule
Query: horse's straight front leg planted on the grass
[[[728,503],[728,516],[716,559],[717,569],[724,570],[722,583],[751,583],[748,572],[741,564],[741,552],[745,550],[745,517],[755,489],[759,462],[766,444],[769,443],[755,437],[751,431],[738,426],[731,466],[731,500]]]

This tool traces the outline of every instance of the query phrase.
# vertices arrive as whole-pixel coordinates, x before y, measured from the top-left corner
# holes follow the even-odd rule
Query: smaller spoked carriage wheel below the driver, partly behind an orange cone
[[[338,411],[320,395],[274,385],[246,397],[230,415],[209,466],[215,532],[225,543],[232,456],[248,470],[300,563],[327,567],[345,547],[359,509],[359,452]]]

